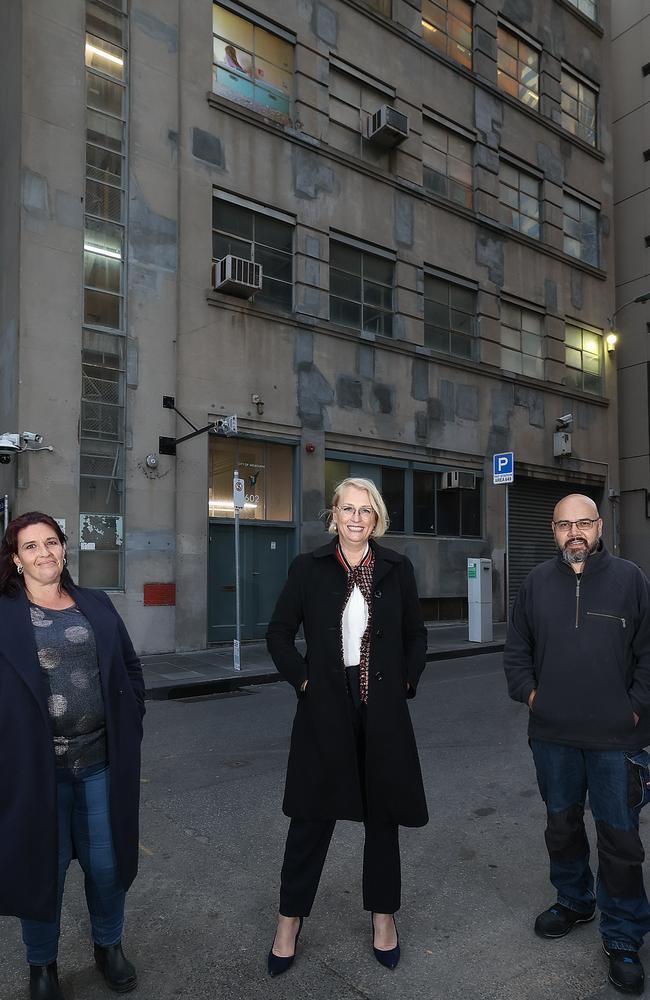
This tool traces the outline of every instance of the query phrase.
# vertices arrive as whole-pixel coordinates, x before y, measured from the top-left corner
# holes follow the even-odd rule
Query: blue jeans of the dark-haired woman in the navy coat
[[[21,921],[30,965],[49,965],[56,960],[63,887],[73,847],[84,871],[93,941],[106,947],[117,944],[122,937],[125,892],[113,849],[108,811],[109,781],[109,769],[103,764],[76,773],[69,768],[57,768],[59,883],[56,919],[52,923]]]

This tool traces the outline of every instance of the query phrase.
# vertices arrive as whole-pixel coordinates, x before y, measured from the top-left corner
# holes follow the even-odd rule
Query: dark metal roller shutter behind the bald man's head
[[[551,519],[558,500],[569,493],[584,493],[600,504],[603,491],[577,483],[524,478],[517,479],[509,490],[508,584],[512,606],[519,587],[531,569],[545,559],[551,559],[557,552]]]

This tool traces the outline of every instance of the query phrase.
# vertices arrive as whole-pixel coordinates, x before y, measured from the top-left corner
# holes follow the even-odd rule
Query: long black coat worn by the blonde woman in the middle
[[[267,632],[277,669],[298,694],[283,810],[302,819],[362,820],[364,806],[341,643],[346,572],[330,544],[291,564]],[[375,554],[366,715],[367,818],[424,826],[428,821],[407,697],[424,669],[427,632],[413,566],[391,549]],[[295,646],[303,626],[304,658]],[[309,685],[304,694],[300,687]],[[410,690],[407,691],[407,682]]]

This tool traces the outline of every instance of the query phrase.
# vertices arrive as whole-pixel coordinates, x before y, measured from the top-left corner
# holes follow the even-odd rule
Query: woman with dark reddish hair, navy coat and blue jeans
[[[95,962],[126,993],[124,900],[138,864],[144,684],[124,623],[77,587],[49,514],[0,545],[0,913],[21,918],[31,1000],[64,1000],[57,972],[66,871],[85,877]]]

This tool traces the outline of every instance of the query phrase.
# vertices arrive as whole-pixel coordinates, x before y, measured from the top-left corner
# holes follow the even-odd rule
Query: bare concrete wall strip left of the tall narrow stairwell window
[[[16,506],[66,520],[78,554],[83,319],[84,9],[23,5],[19,430],[54,453],[16,460]]]

